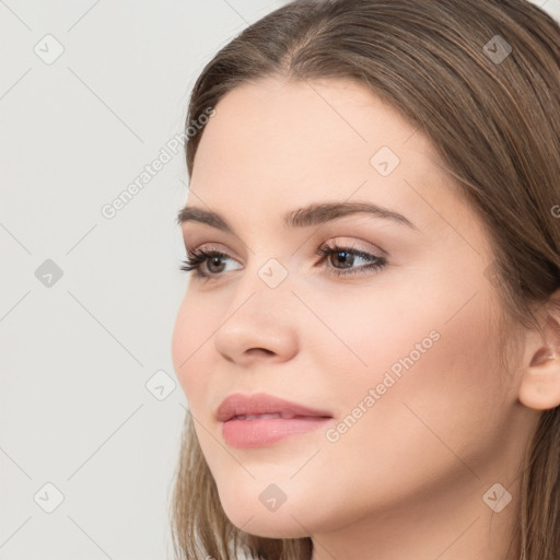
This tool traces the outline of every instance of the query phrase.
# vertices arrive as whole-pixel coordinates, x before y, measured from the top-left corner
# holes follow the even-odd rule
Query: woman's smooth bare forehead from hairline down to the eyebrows
[[[230,215],[357,196],[422,223],[433,212],[423,195],[452,202],[450,177],[427,137],[354,82],[267,79],[235,88],[214,108],[191,188]],[[377,165],[387,156],[394,170],[383,175]]]

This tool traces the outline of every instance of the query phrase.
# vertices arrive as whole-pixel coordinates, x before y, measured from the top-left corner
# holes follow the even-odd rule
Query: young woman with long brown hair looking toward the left
[[[177,557],[558,560],[559,25],[296,0],[187,127]]]

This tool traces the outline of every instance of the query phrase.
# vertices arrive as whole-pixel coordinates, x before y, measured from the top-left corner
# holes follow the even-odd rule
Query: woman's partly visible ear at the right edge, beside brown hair
[[[560,405],[560,290],[541,307],[542,334],[530,331],[520,385],[520,401],[535,410]]]

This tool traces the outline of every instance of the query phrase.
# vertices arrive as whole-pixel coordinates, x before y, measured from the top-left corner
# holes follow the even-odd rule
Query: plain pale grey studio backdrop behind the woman
[[[0,0],[0,560],[172,558],[179,135],[205,63],[283,3]]]

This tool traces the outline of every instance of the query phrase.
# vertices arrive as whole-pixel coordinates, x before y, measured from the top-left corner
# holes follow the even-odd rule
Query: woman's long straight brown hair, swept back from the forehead
[[[525,0],[295,0],[205,67],[187,126],[236,85],[269,77],[354,80],[419,127],[488,229],[502,332],[540,330],[535,310],[560,288],[555,20]],[[202,133],[186,142],[189,177]],[[505,363],[516,350],[502,348]],[[177,558],[230,560],[241,547],[255,559],[308,559],[310,538],[256,537],[231,524],[192,422],[187,412],[171,512]],[[558,560],[560,407],[541,413],[520,468],[521,560]]]

